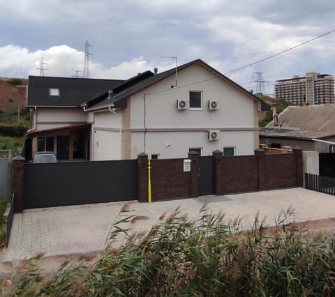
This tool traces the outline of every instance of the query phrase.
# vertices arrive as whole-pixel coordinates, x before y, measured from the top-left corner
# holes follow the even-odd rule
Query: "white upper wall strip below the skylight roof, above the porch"
[[[35,112],[37,112],[37,130],[59,128],[70,124],[87,122],[87,114],[80,108],[38,108]],[[33,118],[34,116],[33,114]]]

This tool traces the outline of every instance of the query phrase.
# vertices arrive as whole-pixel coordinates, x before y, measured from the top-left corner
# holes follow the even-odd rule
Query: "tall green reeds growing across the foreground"
[[[101,259],[64,263],[51,280],[28,265],[16,296],[334,296],[334,236],[313,238],[291,209],[246,231],[206,206],[197,220],[177,208],[145,234],[123,213]],[[120,246],[121,245],[121,246]]]

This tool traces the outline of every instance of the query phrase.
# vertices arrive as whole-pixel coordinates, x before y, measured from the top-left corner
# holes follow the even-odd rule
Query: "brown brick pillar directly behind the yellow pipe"
[[[148,155],[146,153],[137,155],[137,200],[148,201]]]

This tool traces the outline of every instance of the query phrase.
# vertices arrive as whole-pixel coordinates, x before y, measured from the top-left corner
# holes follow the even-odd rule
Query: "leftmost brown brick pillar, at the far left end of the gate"
[[[13,195],[14,195],[14,213],[22,213],[24,198],[24,159],[17,155],[13,158]]]

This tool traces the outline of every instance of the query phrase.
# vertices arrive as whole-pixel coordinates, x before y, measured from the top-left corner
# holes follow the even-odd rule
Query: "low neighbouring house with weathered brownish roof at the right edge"
[[[335,152],[335,105],[289,106],[260,131],[260,144],[299,146],[304,151]]]

